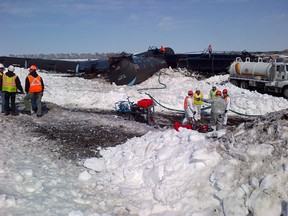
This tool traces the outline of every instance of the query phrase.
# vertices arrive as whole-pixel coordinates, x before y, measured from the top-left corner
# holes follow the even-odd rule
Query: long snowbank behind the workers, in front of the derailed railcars
[[[127,97],[130,97],[132,102],[137,102],[151,95],[162,105],[156,106],[156,111],[178,111],[183,110],[183,99],[190,89],[195,91],[199,88],[204,97],[208,98],[212,84],[215,84],[220,90],[228,89],[231,109],[240,114],[264,115],[288,107],[288,101],[284,98],[240,89],[230,84],[227,82],[229,75],[198,81],[196,78],[184,76],[185,73],[182,70],[162,69],[150,79],[132,87],[111,85],[102,79],[61,78],[59,74],[49,73],[40,75],[46,86],[43,100],[61,106],[114,110],[117,101],[127,100]],[[16,74],[24,85],[28,71],[18,69]]]

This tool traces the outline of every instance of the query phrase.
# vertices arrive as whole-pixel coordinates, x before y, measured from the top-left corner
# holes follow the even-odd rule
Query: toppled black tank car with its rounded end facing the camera
[[[127,53],[109,57],[109,80],[116,85],[136,85],[167,67],[164,59]]]

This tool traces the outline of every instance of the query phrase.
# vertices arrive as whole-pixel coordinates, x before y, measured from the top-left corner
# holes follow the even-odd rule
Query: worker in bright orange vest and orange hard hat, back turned
[[[36,72],[37,67],[31,65],[25,80],[26,96],[24,97],[25,113],[31,115],[31,102],[35,99],[37,104],[37,117],[42,116],[42,96],[44,91],[43,79]]]

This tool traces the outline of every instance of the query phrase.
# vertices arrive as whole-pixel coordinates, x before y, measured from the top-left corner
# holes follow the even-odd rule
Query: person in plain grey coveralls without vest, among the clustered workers
[[[223,128],[223,118],[227,109],[227,103],[222,97],[221,91],[216,92],[216,98],[203,99],[204,102],[211,103],[211,119],[210,124],[213,130],[221,130]]]

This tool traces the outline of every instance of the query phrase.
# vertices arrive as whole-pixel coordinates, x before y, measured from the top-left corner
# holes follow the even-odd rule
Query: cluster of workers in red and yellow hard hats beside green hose
[[[185,117],[182,124],[194,124],[195,121],[200,121],[203,102],[206,102],[211,104],[210,124],[213,130],[223,129],[227,125],[228,111],[231,105],[228,90],[220,91],[213,85],[209,96],[209,99],[205,99],[199,89],[196,89],[195,92],[188,91],[184,99]]]

